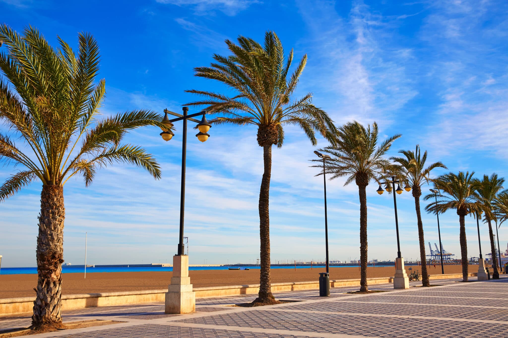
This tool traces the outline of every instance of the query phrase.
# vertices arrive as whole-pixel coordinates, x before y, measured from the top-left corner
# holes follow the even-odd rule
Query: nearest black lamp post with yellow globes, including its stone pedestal
[[[198,124],[199,133],[196,137],[201,142],[205,142],[210,135],[207,131],[210,130],[211,125],[206,121],[206,112],[198,112],[196,114],[187,115],[188,107],[182,107],[183,115],[176,112],[164,109],[164,124],[168,127],[173,126],[173,122],[183,121],[183,137],[182,137],[182,175],[180,186],[180,233],[177,254],[173,256],[173,277],[171,284],[166,292],[166,306],[165,313],[181,314],[194,312],[196,310],[196,293],[193,291],[193,286],[190,284],[189,278],[189,261],[188,255],[185,254],[185,244],[183,242],[183,221],[185,211],[185,165],[187,153],[187,120],[196,122]],[[176,119],[170,120],[168,114],[177,116]],[[201,121],[193,119],[196,116],[203,115]],[[163,130],[160,134],[165,141],[173,138],[174,134],[168,128]]]

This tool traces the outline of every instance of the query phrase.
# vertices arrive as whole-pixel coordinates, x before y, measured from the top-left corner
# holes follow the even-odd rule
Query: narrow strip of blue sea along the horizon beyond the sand
[[[343,266],[330,266],[331,268],[341,268]],[[356,265],[352,265],[349,267],[356,267]],[[376,265],[376,267],[385,267],[384,265]],[[259,266],[246,266],[246,267],[232,267],[232,268],[240,268],[241,270],[248,268],[250,270],[260,269]],[[310,269],[310,266],[297,266],[297,269]],[[313,266],[312,268],[325,268],[324,265]],[[272,266],[271,269],[295,269],[295,266]],[[189,270],[228,270],[228,267],[189,267]],[[144,271],[173,271],[172,267],[96,267],[91,268],[87,267],[86,272],[144,272]],[[84,266],[81,267],[73,267],[73,266],[63,266],[62,273],[84,273]],[[37,274],[37,268],[2,268],[0,270],[0,275],[19,275],[19,274]]]

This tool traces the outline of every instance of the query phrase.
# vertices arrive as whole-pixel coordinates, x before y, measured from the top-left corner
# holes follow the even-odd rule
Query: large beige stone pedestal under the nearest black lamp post
[[[196,311],[196,292],[192,290],[189,277],[189,257],[173,256],[173,277],[166,292],[164,312],[182,314]]]

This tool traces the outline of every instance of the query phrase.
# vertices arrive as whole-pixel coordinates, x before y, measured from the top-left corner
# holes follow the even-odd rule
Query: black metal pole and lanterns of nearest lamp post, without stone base
[[[186,165],[186,153],[187,153],[187,120],[196,122],[198,124],[199,133],[196,134],[196,137],[201,142],[205,142],[210,135],[207,134],[207,131],[210,130],[211,125],[206,121],[206,112],[197,112],[196,114],[187,115],[188,107],[182,107],[183,115],[177,114],[176,112],[170,111],[168,109],[164,109],[164,120],[163,123],[168,127],[173,126],[173,122],[183,121],[183,137],[182,137],[182,177],[181,177],[181,187],[180,187],[180,236],[178,242],[178,255],[185,254],[185,244],[183,243],[183,218],[185,211],[185,165]],[[177,116],[178,118],[169,120],[168,114],[173,116]],[[201,121],[193,119],[196,116],[203,115]],[[174,134],[170,130],[163,130],[160,134],[165,141],[169,141]]]

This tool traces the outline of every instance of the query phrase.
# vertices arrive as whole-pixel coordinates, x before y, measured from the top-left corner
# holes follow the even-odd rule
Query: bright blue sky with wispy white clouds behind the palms
[[[238,35],[262,41],[274,30],[295,58],[308,55],[296,96],[313,102],[337,125],[376,121],[393,144],[420,144],[429,160],[454,172],[508,176],[508,3],[500,1],[262,2],[157,0],[144,2],[51,2],[0,0],[0,21],[16,30],[31,24],[56,45],[76,46],[88,31],[101,47],[100,78],[106,79],[105,115],[130,109],[180,111],[194,98],[186,89],[229,93],[193,77],[193,67],[227,55],[224,40]],[[193,112],[193,110],[190,110]],[[5,127],[1,127],[5,128]],[[89,264],[170,262],[179,217],[181,125],[164,142],[156,128],[128,141],[145,146],[163,167],[163,179],[123,165],[103,169],[85,188],[65,186],[65,259],[83,264],[88,232]],[[259,184],[262,149],[251,127],[215,126],[205,143],[189,132],[186,223],[190,264],[253,262],[259,257]],[[270,199],[272,261],[323,260],[323,182],[309,168],[314,148],[303,132],[287,128],[273,150]],[[318,146],[326,146],[320,139]],[[0,167],[4,180],[17,169]],[[440,174],[444,170],[436,170]],[[331,259],[359,258],[359,201],[355,184],[328,182]],[[0,205],[3,267],[35,266],[41,186]],[[369,259],[394,259],[393,200],[367,187]],[[427,191],[427,187],[423,187]],[[414,199],[397,197],[402,255],[419,256]],[[422,203],[424,206],[425,203]],[[422,208],[423,209],[423,208]],[[445,249],[460,255],[454,212],[440,216]],[[437,242],[434,215],[423,214],[425,241]],[[466,218],[468,255],[478,256],[474,219]],[[500,229],[501,247],[508,233]],[[482,248],[489,252],[481,226]],[[427,247],[428,250],[428,247]]]

